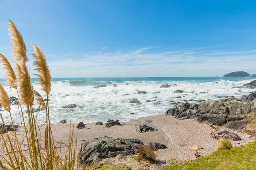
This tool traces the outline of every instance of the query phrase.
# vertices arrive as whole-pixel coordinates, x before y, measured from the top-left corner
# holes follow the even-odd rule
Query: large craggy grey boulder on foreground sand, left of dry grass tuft
[[[137,154],[140,145],[143,145],[143,142],[137,139],[114,139],[108,136],[88,139],[81,144],[79,161],[89,165],[117,155],[122,158]]]

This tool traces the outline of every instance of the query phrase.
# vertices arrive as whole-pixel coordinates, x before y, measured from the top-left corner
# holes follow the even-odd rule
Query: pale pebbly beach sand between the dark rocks
[[[145,120],[152,120],[151,123],[145,123]],[[147,124],[156,127],[158,131],[137,133],[136,125]],[[73,125],[73,124],[71,124]],[[76,127],[75,123],[75,127]],[[53,133],[55,142],[63,142],[68,144],[70,124],[53,124]],[[177,160],[193,160],[195,152],[188,150],[188,147],[195,144],[204,147],[199,150],[201,156],[206,156],[215,151],[217,139],[212,134],[217,131],[226,130],[223,127],[213,127],[206,123],[197,122],[196,120],[186,119],[179,120],[174,117],[165,116],[163,114],[157,116],[141,117],[136,120],[122,122],[122,126],[104,127],[104,125],[95,125],[90,123],[87,128],[74,130],[74,136],[77,137],[77,144],[80,148],[84,140],[99,137],[111,136],[113,138],[139,139],[144,144],[148,142],[157,142],[166,144],[168,149],[158,150],[157,159],[169,161]],[[255,140],[255,137],[246,138],[247,133],[230,130],[237,133],[242,140],[232,142],[233,146],[244,145]]]

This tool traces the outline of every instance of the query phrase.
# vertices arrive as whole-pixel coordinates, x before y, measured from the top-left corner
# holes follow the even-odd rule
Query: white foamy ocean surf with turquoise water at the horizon
[[[32,78],[34,89],[45,98],[46,95],[37,80]],[[52,91],[49,95],[50,116],[52,123],[58,123],[62,119],[84,123],[106,122],[108,119],[126,122],[130,119],[165,113],[173,106],[173,102],[170,101],[220,99],[218,96],[240,98],[249,94],[252,89],[232,87],[242,86],[250,81],[252,79],[218,77],[52,78]],[[9,96],[17,97],[17,92],[6,86],[3,79],[0,83]],[[125,85],[126,83],[129,85]],[[164,83],[172,86],[160,88]],[[117,87],[113,87],[113,84]],[[107,87],[93,88],[97,85]],[[137,90],[145,91],[146,94],[138,94]],[[182,90],[184,93],[175,93],[176,90]],[[176,98],[177,96],[180,98]],[[138,99],[140,103],[129,103],[131,99]],[[156,101],[152,101],[154,99]],[[146,100],[151,102],[145,102]],[[68,104],[76,104],[77,107],[61,108]],[[5,121],[9,122],[9,113],[1,111]],[[15,122],[21,122],[17,105],[12,105],[12,116]],[[37,113],[36,117],[39,124],[46,119],[43,111]]]

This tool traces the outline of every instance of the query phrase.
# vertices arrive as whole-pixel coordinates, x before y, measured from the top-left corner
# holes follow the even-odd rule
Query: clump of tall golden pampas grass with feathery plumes
[[[46,94],[46,102],[37,91],[33,89],[29,70],[26,63],[26,44],[21,33],[15,24],[9,20],[9,37],[12,39],[12,57],[15,59],[15,69],[8,59],[0,54],[0,62],[6,71],[6,80],[10,88],[17,90],[19,108],[22,124],[19,130],[15,129],[15,122],[12,119],[9,97],[2,85],[0,85],[0,105],[9,113],[13,132],[6,127],[4,117],[0,111],[0,120],[3,123],[3,130],[0,130],[0,167],[3,170],[79,170],[78,148],[74,139],[74,126],[70,125],[70,136],[67,150],[57,147],[52,133],[49,110],[49,94],[51,92],[51,75],[44,52],[38,45],[34,45],[35,74],[42,90]],[[44,134],[41,133],[33,112],[33,105],[37,105],[40,111],[46,113],[44,123]],[[25,119],[23,108],[27,110]],[[27,121],[26,121],[27,120]],[[75,140],[75,143],[74,143]]]

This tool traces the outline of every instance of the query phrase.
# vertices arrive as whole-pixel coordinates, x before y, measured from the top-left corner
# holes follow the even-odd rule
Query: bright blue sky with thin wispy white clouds
[[[253,0],[0,0],[0,54],[12,61],[7,19],[52,77],[256,74]]]

